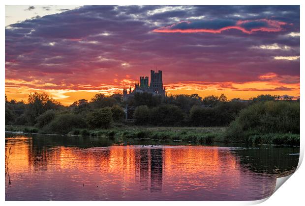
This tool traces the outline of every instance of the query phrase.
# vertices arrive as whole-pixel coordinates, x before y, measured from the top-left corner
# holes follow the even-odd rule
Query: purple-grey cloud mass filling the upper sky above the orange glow
[[[299,76],[299,60],[274,59],[300,55],[300,38],[288,35],[300,31],[299,9],[299,6],[83,6],[6,27],[6,78],[48,76],[52,83],[89,82],[96,86],[102,81],[112,81],[115,74],[119,79],[126,74],[137,79],[155,66],[166,72],[169,83],[247,82],[260,80],[259,76],[266,73]],[[274,24],[276,27],[277,22],[286,25],[281,25],[278,31],[259,30],[251,34],[236,29],[225,33],[153,32],[171,25],[179,29],[221,29],[238,22],[247,30],[270,28]],[[290,50],[260,49],[261,45],[274,43]]]

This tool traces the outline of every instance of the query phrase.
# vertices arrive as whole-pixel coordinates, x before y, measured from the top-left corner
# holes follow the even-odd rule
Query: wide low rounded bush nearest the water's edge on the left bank
[[[85,128],[86,122],[79,114],[60,114],[56,116],[50,124],[42,129],[42,132],[67,134],[73,128]]]

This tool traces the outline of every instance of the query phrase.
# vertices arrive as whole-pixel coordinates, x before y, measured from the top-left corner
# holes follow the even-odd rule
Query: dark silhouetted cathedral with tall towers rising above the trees
[[[127,89],[123,89],[123,98],[126,99],[129,96],[135,94],[136,92],[143,93],[148,92],[153,95],[163,95],[165,96],[165,87],[163,87],[162,81],[162,71],[154,72],[151,70],[151,83],[148,84],[149,77],[140,77],[140,84],[135,83],[135,87],[133,91],[131,91],[131,87],[129,87],[129,93],[127,93]]]

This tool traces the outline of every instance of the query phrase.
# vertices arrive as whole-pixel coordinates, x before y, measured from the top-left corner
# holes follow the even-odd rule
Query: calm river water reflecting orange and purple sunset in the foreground
[[[258,200],[300,150],[181,144],[6,133],[5,200]]]

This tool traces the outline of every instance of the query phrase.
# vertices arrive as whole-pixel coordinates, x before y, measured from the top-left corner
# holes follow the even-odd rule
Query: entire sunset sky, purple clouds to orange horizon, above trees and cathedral
[[[5,94],[64,105],[163,71],[166,92],[300,96],[300,6],[6,6]]]

